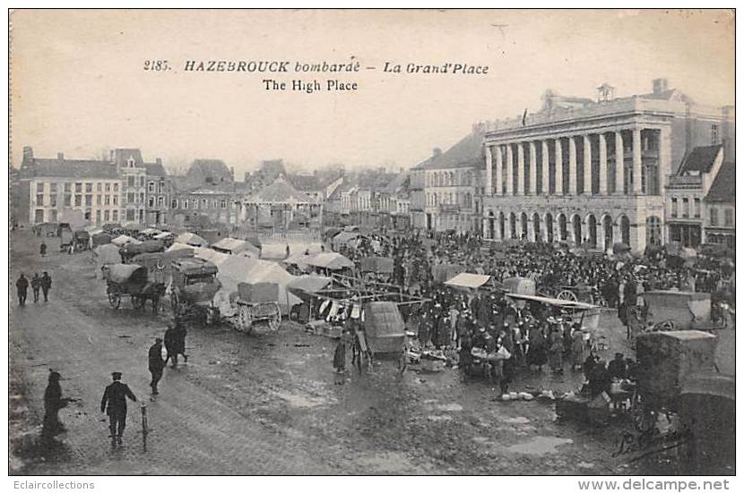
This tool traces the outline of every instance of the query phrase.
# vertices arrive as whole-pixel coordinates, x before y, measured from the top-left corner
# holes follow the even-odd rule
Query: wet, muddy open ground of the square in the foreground
[[[187,364],[168,368],[151,398],[147,350],[169,311],[113,310],[91,253],[39,256],[40,238],[13,232],[11,279],[48,270],[49,302],[17,306],[10,357],[16,474],[628,474],[673,472],[665,458],[613,457],[626,424],[593,429],[556,419],[554,404],[500,402],[497,388],[457,370],[397,373],[378,361],[359,376],[333,372],[335,343],[285,322],[246,336],[228,325],[188,327]],[[167,303],[166,303],[167,305]],[[167,308],[164,307],[164,308]],[[623,350],[624,328],[603,313],[607,354]],[[733,340],[733,330],[724,335]],[[732,344],[719,366],[733,372]],[[728,349],[726,349],[728,347]],[[627,350],[626,350],[627,351]],[[726,353],[728,352],[728,353]],[[628,352],[629,353],[629,352]],[[55,451],[34,448],[48,370],[60,371],[67,432]],[[121,370],[140,402],[129,407],[125,445],[112,449],[99,412],[110,372]],[[523,370],[513,390],[578,387],[579,373]],[[143,452],[140,403],[150,433]],[[666,462],[664,462],[666,461]],[[666,464],[666,465],[664,465]]]

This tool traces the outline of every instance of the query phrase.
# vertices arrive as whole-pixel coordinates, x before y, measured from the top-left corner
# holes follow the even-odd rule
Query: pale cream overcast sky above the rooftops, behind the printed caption
[[[12,22],[16,166],[30,145],[81,158],[136,147],[167,166],[221,158],[238,173],[277,157],[308,171],[409,167],[474,122],[538,110],[548,88],[594,98],[607,81],[628,96],[666,77],[698,102],[734,101],[734,17],[721,11],[16,11]],[[267,92],[271,74],[183,71],[187,60],[351,56],[362,70],[338,79],[354,92]],[[153,59],[173,70],[143,71]],[[384,73],[386,61],[489,73]]]

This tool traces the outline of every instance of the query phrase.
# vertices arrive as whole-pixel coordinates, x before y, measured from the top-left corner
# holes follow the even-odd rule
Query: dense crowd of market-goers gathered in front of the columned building
[[[628,308],[644,310],[641,294],[653,290],[711,293],[714,313],[724,304],[733,316],[730,259],[680,260],[662,249],[649,249],[643,256],[596,255],[560,244],[499,245],[468,233],[365,234],[339,251],[358,267],[368,256],[392,258],[394,269],[387,280],[425,300],[402,307],[407,330],[420,348],[446,354],[466,375],[492,378],[502,393],[520,369],[582,370],[595,394],[606,390],[612,378],[626,378],[634,367],[622,353],[603,361],[593,334],[570,310],[504,295],[497,286],[507,278],[530,279],[537,293],[581,287],[594,303],[617,309],[624,324]],[[437,278],[437,270],[447,272],[447,266],[491,276],[495,283],[470,292],[454,289]]]

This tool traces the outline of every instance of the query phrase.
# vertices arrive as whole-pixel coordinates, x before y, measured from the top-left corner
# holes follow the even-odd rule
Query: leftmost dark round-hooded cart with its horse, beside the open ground
[[[103,268],[103,276],[108,302],[114,309],[128,296],[135,310],[143,309],[147,300],[151,300],[153,309],[157,310],[160,296],[165,293],[165,285],[148,280],[147,268],[143,266],[112,264]]]

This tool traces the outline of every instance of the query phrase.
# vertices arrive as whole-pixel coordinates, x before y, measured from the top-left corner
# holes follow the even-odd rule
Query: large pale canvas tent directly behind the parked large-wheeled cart
[[[238,293],[238,284],[273,283],[279,285],[279,307],[282,315],[287,315],[291,308],[302,301],[287,289],[294,279],[289,272],[274,262],[247,257],[226,256],[218,266],[217,278],[222,283],[220,291],[215,294],[214,301],[223,316],[235,314],[236,306],[230,303],[230,295]]]

